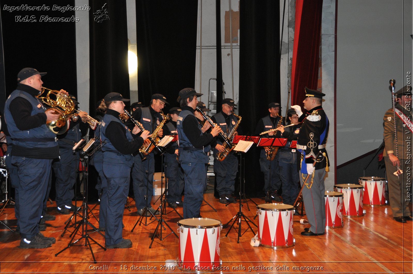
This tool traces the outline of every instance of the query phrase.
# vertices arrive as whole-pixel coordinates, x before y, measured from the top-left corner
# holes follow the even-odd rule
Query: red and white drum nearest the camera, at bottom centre
[[[222,224],[209,218],[177,222],[179,233],[178,267],[185,271],[214,271],[222,264],[220,235]]]

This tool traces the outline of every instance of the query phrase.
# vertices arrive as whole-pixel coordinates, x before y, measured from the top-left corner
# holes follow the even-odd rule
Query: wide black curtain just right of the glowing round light
[[[136,2],[139,101],[161,93],[174,106],[178,92],[195,85],[197,7],[194,0]]]

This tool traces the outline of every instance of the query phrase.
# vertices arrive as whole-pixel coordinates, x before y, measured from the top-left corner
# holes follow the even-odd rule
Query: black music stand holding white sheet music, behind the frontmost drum
[[[232,219],[229,220],[229,222],[227,222],[223,227],[226,227],[230,222],[233,222],[233,223],[231,224],[230,229],[228,229],[227,234],[225,234],[225,237],[228,237],[228,234],[230,233],[231,229],[234,227],[235,222],[238,222],[238,239],[237,239],[237,243],[240,243],[240,237],[241,237],[245,232],[247,232],[248,229],[250,229],[250,230],[252,231],[252,233],[255,235],[254,230],[252,230],[252,227],[251,227],[251,225],[249,224],[250,222],[257,227],[257,225],[256,225],[254,222],[252,222],[252,220],[250,220],[247,216],[244,215],[244,213],[242,213],[242,203],[241,203],[241,192],[242,192],[242,191],[245,192],[245,177],[244,177],[244,170],[245,170],[245,163],[244,163],[244,162],[245,162],[245,160],[243,160],[242,154],[243,154],[243,153],[246,153],[246,152],[248,151],[248,149],[252,146],[253,143],[254,143],[254,142],[252,142],[252,141],[242,141],[242,140],[239,140],[237,146],[235,146],[235,148],[233,149],[234,151],[238,151],[238,152],[240,153],[240,157],[241,157],[241,158],[240,158],[240,161],[241,161],[241,164],[240,164],[240,166],[241,166],[241,167],[240,167],[240,169],[241,169],[241,170],[240,170],[240,180],[241,180],[241,182],[240,182],[240,202],[239,202],[239,204],[240,204],[240,210],[239,210],[238,213],[237,213],[234,217],[232,217]],[[247,147],[247,146],[248,146],[248,147]],[[243,187],[244,189],[242,189],[242,187]],[[244,233],[241,233],[241,223],[242,223],[242,221],[246,222],[247,225],[248,225],[248,228],[244,231]]]

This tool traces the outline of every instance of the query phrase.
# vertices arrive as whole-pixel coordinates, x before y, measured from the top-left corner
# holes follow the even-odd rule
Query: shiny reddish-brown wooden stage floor
[[[156,197],[154,197],[156,198]],[[216,208],[215,212],[210,206],[201,208],[202,217],[221,220],[227,223],[239,211],[239,205],[230,204],[225,206],[213,194],[205,194],[204,198],[211,206]],[[261,204],[260,198],[253,199]],[[78,206],[81,203],[78,202]],[[256,207],[251,201],[243,204],[243,213],[250,219],[256,215]],[[93,253],[97,263],[93,263],[93,257],[85,240],[82,239],[76,245],[64,250],[74,231],[69,227],[64,231],[64,222],[70,215],[60,215],[56,212],[55,204],[49,205],[49,214],[56,215],[56,220],[47,221],[47,230],[43,231],[45,236],[56,238],[56,243],[50,248],[43,249],[20,249],[20,235],[8,230],[0,224],[1,241],[1,270],[2,273],[163,273],[181,272],[178,267],[164,270],[165,260],[175,260],[178,257],[178,239],[173,234],[162,241],[155,237],[152,248],[149,248],[151,237],[157,223],[147,226],[137,225],[135,230],[131,229],[138,220],[134,202],[131,202],[131,211],[127,208],[124,212],[123,237],[131,239],[132,248],[108,249],[104,251],[97,244],[92,244]],[[94,205],[90,205],[92,208]],[[294,215],[293,235],[295,245],[289,248],[266,248],[252,247],[251,231],[246,222],[241,222],[242,236],[237,243],[238,222],[236,229],[231,229],[228,237],[228,227],[221,231],[220,257],[223,273],[412,273],[412,227],[413,222],[406,224],[396,222],[392,219],[389,206],[369,207],[364,206],[366,214],[363,217],[352,217],[344,219],[344,227],[326,229],[322,236],[302,236],[301,231],[308,225],[300,224],[301,216]],[[171,208],[167,208],[169,212]],[[98,215],[98,210],[93,210]],[[178,208],[182,215],[182,208]],[[304,216],[305,218],[305,216]],[[0,216],[0,220],[16,228],[14,208],[7,207]],[[176,232],[176,222],[180,220],[175,212],[164,216],[164,220]],[[149,218],[148,218],[149,221]],[[90,218],[90,222],[97,226],[97,220]],[[257,224],[258,220],[254,220]],[[254,232],[257,232],[253,226]],[[165,237],[171,231],[166,228],[162,236]],[[98,243],[104,245],[104,238],[97,232],[90,236]],[[76,235],[75,239],[80,238]]]

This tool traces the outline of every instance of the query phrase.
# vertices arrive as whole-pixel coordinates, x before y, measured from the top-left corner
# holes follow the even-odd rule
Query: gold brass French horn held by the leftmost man
[[[45,97],[40,97],[46,90],[48,90]],[[37,98],[44,104],[50,106],[48,109],[53,109],[54,114],[59,114],[59,118],[53,121],[46,121],[47,128],[55,134],[63,134],[68,129],[68,123],[66,116],[69,116],[74,112],[75,104],[72,99],[66,94],[59,93],[58,90],[50,90],[42,87],[42,91]]]

